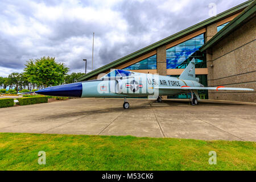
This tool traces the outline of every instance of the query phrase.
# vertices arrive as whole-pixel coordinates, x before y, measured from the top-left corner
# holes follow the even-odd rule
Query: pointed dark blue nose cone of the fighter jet
[[[82,83],[77,82],[73,84],[52,86],[45,89],[36,91],[37,94],[46,96],[62,96],[62,97],[81,97],[82,96]]]

